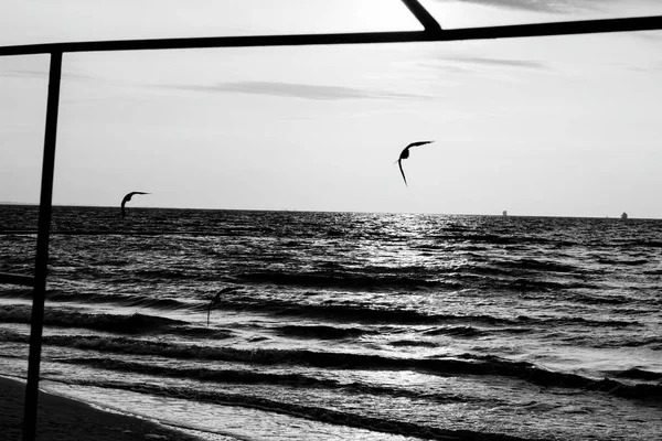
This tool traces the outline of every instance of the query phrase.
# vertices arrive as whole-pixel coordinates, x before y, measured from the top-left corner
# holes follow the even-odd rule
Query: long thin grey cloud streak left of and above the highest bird
[[[320,86],[301,83],[280,82],[235,82],[211,86],[169,86],[185,90],[226,92],[236,94],[270,95],[302,99],[425,99],[426,96],[394,93],[388,90],[359,89],[344,86]]]

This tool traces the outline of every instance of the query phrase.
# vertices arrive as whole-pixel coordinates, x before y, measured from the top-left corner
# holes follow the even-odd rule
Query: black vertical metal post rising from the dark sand
[[[41,363],[44,303],[46,299],[46,273],[49,266],[49,235],[53,202],[53,172],[55,169],[55,140],[57,135],[57,107],[62,77],[62,52],[51,53],[49,74],[49,98],[46,104],[46,130],[44,135],[44,159],[42,162],[42,186],[39,204],[39,230],[34,262],[34,290],[32,298],[32,322],[30,329],[30,356],[23,418],[23,441],[32,441],[36,434],[36,404],[39,397],[39,368]]]

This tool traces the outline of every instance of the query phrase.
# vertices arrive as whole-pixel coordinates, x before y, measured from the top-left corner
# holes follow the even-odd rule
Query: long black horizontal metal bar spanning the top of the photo
[[[583,20],[439,31],[369,32],[300,35],[205,36],[186,39],[115,40],[44,43],[0,47],[0,56],[70,52],[146,51],[202,47],[302,46],[324,44],[413,43],[460,40],[514,39],[653,31],[662,29],[662,15],[624,19]]]

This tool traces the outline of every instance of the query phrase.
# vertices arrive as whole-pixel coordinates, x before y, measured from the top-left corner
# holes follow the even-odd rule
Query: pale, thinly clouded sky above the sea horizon
[[[662,15],[421,3],[444,29]],[[398,0],[0,0],[0,45],[419,29]],[[39,203],[47,69],[0,57],[0,203]],[[65,54],[53,203],[662,218],[661,107],[661,31]]]

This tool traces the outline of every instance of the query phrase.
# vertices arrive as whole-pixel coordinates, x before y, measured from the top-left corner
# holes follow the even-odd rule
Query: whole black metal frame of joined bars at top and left
[[[62,57],[64,53],[203,47],[447,42],[460,40],[513,39],[662,30],[662,15],[442,30],[435,18],[418,2],[418,0],[401,1],[420,22],[424,28],[423,31],[119,40],[0,46],[0,56],[33,54],[51,55],[34,277],[0,273],[0,283],[33,288],[30,355],[23,422],[24,441],[34,440],[36,434],[36,405],[49,262],[57,110],[60,103],[60,84],[62,79]]]

